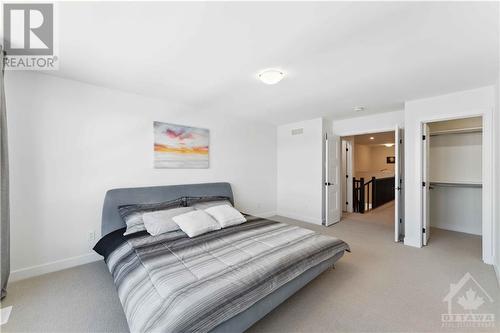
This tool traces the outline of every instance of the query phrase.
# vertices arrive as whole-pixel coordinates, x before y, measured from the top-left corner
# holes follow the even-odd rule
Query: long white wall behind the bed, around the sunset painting
[[[276,210],[274,126],[29,72],[6,93],[13,279],[95,259],[112,188],[227,181],[241,210]],[[210,168],[154,169],[155,120],[210,129]]]

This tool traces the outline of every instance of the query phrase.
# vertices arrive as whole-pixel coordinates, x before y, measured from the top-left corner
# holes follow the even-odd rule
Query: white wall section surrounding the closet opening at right
[[[483,135],[483,260],[492,262],[492,181],[493,153],[492,114],[494,89],[492,86],[457,92],[405,103],[405,244],[422,246],[421,190],[422,190],[422,122],[464,118],[482,115]],[[409,161],[412,161],[409,163]],[[489,222],[489,223],[488,223]],[[431,234],[432,237],[432,234]]]

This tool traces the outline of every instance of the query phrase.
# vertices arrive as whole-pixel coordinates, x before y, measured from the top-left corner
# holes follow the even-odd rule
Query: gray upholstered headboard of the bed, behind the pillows
[[[159,203],[187,196],[223,196],[228,197],[234,205],[233,191],[229,183],[118,188],[109,190],[104,197],[101,237],[125,227],[125,222],[123,222],[118,213],[118,206]]]

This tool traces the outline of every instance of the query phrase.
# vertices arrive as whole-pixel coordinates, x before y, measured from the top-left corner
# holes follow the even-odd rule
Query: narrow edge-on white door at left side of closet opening
[[[431,218],[430,218],[430,136],[429,125],[423,125],[422,136],[422,243],[427,245],[431,233]]]

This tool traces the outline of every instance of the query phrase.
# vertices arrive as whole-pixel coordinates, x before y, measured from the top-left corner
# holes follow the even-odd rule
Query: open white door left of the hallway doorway
[[[326,138],[326,172],[325,172],[325,202],[326,225],[340,221],[342,214],[342,195],[340,184],[340,138],[328,135]]]

